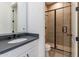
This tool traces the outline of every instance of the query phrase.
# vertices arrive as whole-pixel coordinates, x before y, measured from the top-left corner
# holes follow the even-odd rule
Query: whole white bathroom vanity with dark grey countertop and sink
[[[13,33],[0,36],[0,57],[38,57],[38,34]]]

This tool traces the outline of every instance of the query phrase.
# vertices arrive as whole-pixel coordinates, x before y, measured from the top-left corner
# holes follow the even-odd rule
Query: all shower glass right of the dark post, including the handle
[[[56,10],[56,49],[71,56],[71,7]]]

